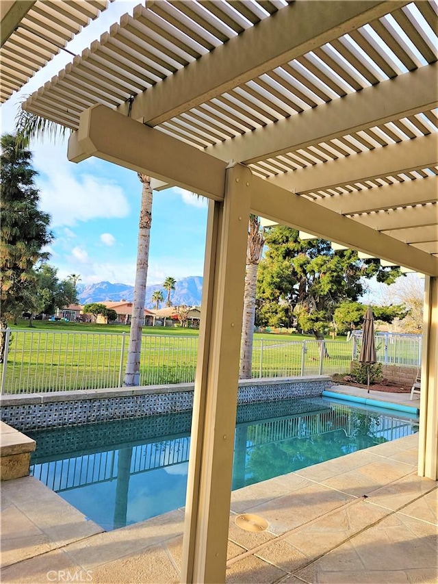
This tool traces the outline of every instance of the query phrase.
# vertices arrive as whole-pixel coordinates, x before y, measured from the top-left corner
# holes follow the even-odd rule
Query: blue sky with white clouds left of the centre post
[[[79,54],[119,21],[138,1],[116,0],[68,49]],[[14,131],[18,105],[73,59],[63,51],[21,92],[1,107],[1,132]],[[142,185],[136,173],[90,158],[68,162],[66,141],[34,142],[40,207],[52,217],[55,240],[50,263],[58,276],[81,275],[81,283],[103,280],[133,284],[136,272],[138,214]],[[203,273],[207,203],[179,188],[154,192],[148,284],[167,276],[181,279]]]

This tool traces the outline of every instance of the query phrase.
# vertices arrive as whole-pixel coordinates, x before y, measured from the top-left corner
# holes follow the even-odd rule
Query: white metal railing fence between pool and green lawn
[[[126,333],[38,331],[5,333],[1,393],[21,394],[123,385]],[[253,377],[296,377],[345,373],[357,356],[360,338],[345,341],[290,341],[281,336],[254,340]],[[421,338],[378,342],[379,360],[417,365]],[[419,344],[420,342],[420,344]],[[380,343],[380,344],[379,344]],[[196,370],[197,337],[143,335],[140,385],[190,383]],[[391,359],[391,360],[390,360]]]

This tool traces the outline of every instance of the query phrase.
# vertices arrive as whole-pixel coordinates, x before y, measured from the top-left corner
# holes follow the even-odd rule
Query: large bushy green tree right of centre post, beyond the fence
[[[361,260],[357,251],[333,251],[326,240],[302,241],[298,231],[277,225],[266,234],[266,255],[259,265],[257,322],[290,326],[323,338],[337,305],[357,301],[363,279],[393,283],[398,268],[383,268],[378,260]]]

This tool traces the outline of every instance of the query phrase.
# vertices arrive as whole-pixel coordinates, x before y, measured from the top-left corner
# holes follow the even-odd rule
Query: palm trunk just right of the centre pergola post
[[[257,287],[257,271],[259,269],[264,243],[265,231],[264,229],[260,229],[260,219],[256,215],[250,215],[248,224],[248,247],[246,249],[244,318],[242,322],[242,340],[240,342],[240,379],[250,379],[251,377],[255,291]]]

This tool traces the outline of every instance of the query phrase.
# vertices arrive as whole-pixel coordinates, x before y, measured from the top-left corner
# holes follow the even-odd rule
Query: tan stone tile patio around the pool
[[[416,464],[411,435],[233,492],[227,582],[435,584],[438,483]],[[243,512],[268,529],[237,527]],[[36,479],[6,481],[1,581],[177,583],[182,531],[179,509],[103,532]]]

